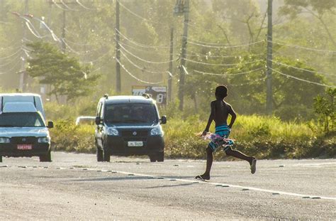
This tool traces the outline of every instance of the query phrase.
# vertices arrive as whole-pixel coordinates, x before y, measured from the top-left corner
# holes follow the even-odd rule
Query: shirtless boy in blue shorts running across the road
[[[231,107],[230,104],[224,101],[224,98],[228,96],[228,89],[225,86],[218,86],[215,89],[215,100],[211,102],[211,114],[208,119],[208,124],[206,124],[206,129],[203,131],[203,136],[209,131],[210,125],[213,121],[215,121],[215,134],[223,138],[228,138],[230,135],[231,128],[235,123],[235,119],[237,115],[235,111]],[[231,121],[228,125],[228,115],[231,115]],[[206,172],[202,175],[196,176],[198,180],[208,181],[210,180],[210,171],[211,166],[213,164],[213,151],[216,151],[222,143],[211,141],[206,148]],[[256,163],[257,159],[252,156],[246,156],[244,153],[240,151],[233,150],[231,146],[225,146],[224,151],[228,156],[234,156],[235,158],[240,158],[250,163],[251,173],[255,173],[256,171]]]

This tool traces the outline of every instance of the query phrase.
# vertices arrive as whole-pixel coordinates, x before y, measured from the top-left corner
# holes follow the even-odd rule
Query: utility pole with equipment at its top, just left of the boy
[[[182,2],[182,1],[181,1]],[[184,79],[185,72],[184,67],[186,67],[186,43],[188,43],[188,22],[189,22],[189,0],[184,1],[184,30],[182,37],[182,47],[181,47],[181,65],[179,67],[179,109],[183,111],[184,106]]]

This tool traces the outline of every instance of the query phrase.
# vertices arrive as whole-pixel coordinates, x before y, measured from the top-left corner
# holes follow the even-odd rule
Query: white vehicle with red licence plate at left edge
[[[45,123],[40,96],[15,95],[0,95],[0,163],[3,156],[39,156],[50,162],[48,129],[53,123]]]

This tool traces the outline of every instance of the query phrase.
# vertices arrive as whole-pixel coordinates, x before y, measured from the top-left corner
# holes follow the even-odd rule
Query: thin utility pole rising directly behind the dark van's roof
[[[116,0],[116,90],[118,93],[121,92],[121,46],[120,41],[120,20],[119,20],[119,0]]]

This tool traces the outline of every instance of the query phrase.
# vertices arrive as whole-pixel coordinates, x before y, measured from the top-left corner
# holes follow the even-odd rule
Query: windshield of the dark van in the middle
[[[152,125],[159,119],[153,104],[109,104],[106,105],[104,120],[110,124]]]

